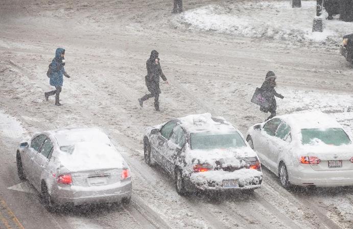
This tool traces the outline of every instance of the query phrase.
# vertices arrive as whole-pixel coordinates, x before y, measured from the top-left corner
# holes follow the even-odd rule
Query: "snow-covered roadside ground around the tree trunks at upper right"
[[[338,19],[324,20],[323,33],[312,33],[316,1],[302,1],[301,4],[301,8],[291,8],[288,1],[228,1],[224,5],[207,5],[186,11],[176,16],[175,22],[192,30],[291,43],[328,41],[337,44],[343,35],[352,33],[353,22]],[[326,13],[323,16],[326,17]]]

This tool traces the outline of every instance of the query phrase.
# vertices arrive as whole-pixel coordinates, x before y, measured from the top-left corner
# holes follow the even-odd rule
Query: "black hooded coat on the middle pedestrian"
[[[158,59],[158,63],[155,62],[155,59]],[[161,77],[163,81],[167,81],[167,78],[160,67],[157,51],[151,53],[151,57],[146,62],[146,68],[147,75],[145,80],[147,89],[152,94],[160,94],[159,77]]]

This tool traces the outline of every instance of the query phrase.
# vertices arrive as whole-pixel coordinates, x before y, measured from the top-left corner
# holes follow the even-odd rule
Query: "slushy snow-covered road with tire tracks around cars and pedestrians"
[[[144,128],[173,117],[211,112],[245,134],[264,119],[249,101],[267,70],[276,72],[277,91],[285,96],[278,101],[279,114],[321,110],[334,115],[352,138],[353,70],[336,49],[176,27],[179,16],[170,14],[172,1],[75,2],[0,3],[0,117],[15,120],[0,121],[5,130],[0,155],[6,161],[1,176],[14,173],[0,182],[7,187],[19,183],[15,147],[20,136],[62,126],[99,126],[131,166],[134,197],[129,207],[49,214],[35,194],[0,189],[25,228],[48,228],[45,223],[75,229],[351,228],[351,188],[287,191],[265,169],[263,187],[254,195],[180,197],[171,177],[143,160]],[[224,1],[184,4],[197,10]],[[45,72],[58,46],[66,49],[65,68],[72,76],[64,79],[62,107],[43,96],[50,89]],[[160,53],[170,82],[161,83],[162,113],[153,110],[152,101],[143,109],[137,103],[147,92],[145,62],[152,49]],[[33,203],[38,214],[27,215],[20,200]]]

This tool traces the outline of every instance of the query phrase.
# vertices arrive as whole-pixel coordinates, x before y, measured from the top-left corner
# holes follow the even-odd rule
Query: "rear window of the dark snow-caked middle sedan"
[[[192,133],[190,135],[191,149],[238,148],[246,146],[243,138],[237,133],[211,134]]]

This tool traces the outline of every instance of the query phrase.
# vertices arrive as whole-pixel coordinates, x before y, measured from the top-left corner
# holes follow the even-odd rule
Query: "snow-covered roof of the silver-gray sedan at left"
[[[56,138],[60,146],[72,145],[77,142],[109,143],[110,139],[101,130],[96,128],[69,128],[48,131]]]

